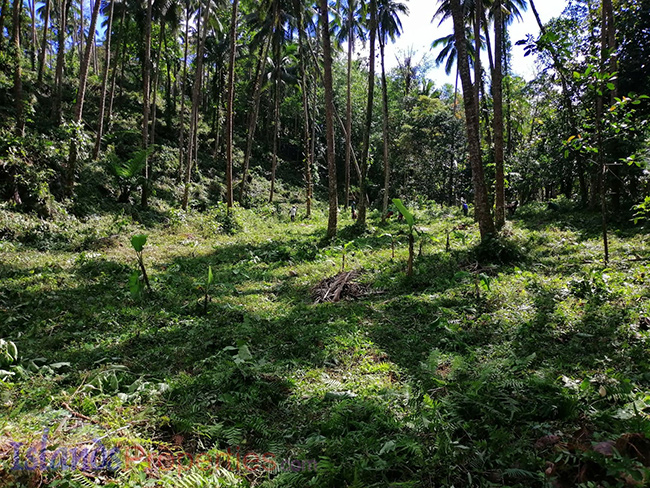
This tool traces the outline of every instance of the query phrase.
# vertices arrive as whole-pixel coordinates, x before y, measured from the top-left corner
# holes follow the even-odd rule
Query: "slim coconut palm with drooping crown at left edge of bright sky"
[[[379,38],[379,53],[381,59],[381,88],[383,107],[383,139],[384,139],[384,202],[382,208],[382,220],[388,213],[388,194],[390,190],[390,160],[388,157],[388,87],[386,84],[385,48],[388,39],[395,41],[395,38],[402,31],[400,15],[408,15],[408,8],[403,3],[395,0],[380,0],[377,12],[377,29]]]

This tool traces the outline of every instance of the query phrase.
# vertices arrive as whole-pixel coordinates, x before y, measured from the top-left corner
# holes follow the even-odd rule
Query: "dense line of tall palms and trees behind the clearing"
[[[540,34],[515,41],[540,70],[525,82],[508,27],[529,6]],[[648,0],[571,1],[546,25],[532,1],[443,0],[431,40],[457,83],[438,88],[426,57],[386,69],[407,7],[4,0],[2,198],[230,208],[273,203],[282,181],[307,217],[329,201],[330,236],[340,206],[358,202],[364,227],[400,197],[471,200],[484,237],[510,200],[564,194],[603,216],[643,200]]]

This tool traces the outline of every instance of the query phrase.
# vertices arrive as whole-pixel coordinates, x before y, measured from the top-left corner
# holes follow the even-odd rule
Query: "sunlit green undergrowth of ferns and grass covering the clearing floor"
[[[479,246],[415,213],[407,277],[376,214],[326,243],[321,209],[0,210],[0,486],[647,486],[646,229],[604,265],[597,214],[531,204]],[[315,303],[344,254],[351,298]]]

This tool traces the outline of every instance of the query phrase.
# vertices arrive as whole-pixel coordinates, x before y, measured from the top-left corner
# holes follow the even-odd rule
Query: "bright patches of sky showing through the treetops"
[[[431,42],[452,32],[451,22],[444,23],[440,27],[438,27],[437,20],[435,23],[431,23],[431,18],[438,7],[436,0],[407,0],[405,3],[409,7],[409,16],[402,19],[404,32],[401,37],[394,45],[386,46],[387,69],[397,66],[397,53],[407,51],[410,48],[418,53],[415,55],[416,60],[421,59],[426,53],[429,53],[429,56],[435,59],[437,53],[429,50]],[[560,15],[567,3],[566,0],[537,0],[535,6],[542,22],[547,22],[551,18]],[[535,36],[539,34],[537,22],[530,7],[526,12],[523,12],[522,17],[521,22],[515,22],[510,27],[513,44],[520,39],[524,39],[526,34]],[[534,59],[531,56],[524,57],[523,46],[513,46],[512,67],[515,73],[528,80],[534,77]],[[452,73],[451,76],[447,76],[442,66],[433,68],[428,73],[428,77],[434,80],[436,86],[441,86],[444,83],[453,84],[455,81],[455,74]]]

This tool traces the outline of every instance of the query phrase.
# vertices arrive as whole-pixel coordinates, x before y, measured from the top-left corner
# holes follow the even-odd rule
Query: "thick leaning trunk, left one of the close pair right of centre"
[[[481,239],[485,240],[495,233],[494,221],[490,214],[485,176],[480,153],[478,104],[476,103],[475,90],[469,69],[467,45],[465,39],[465,21],[460,0],[450,0],[451,13],[454,22],[454,36],[458,52],[458,71],[463,85],[463,100],[465,104],[465,119],[467,141],[469,146],[469,159],[472,168],[472,183],[474,187],[474,204],[476,218],[479,224]],[[477,56],[478,57],[478,56]],[[477,84],[478,84],[477,80]]]

